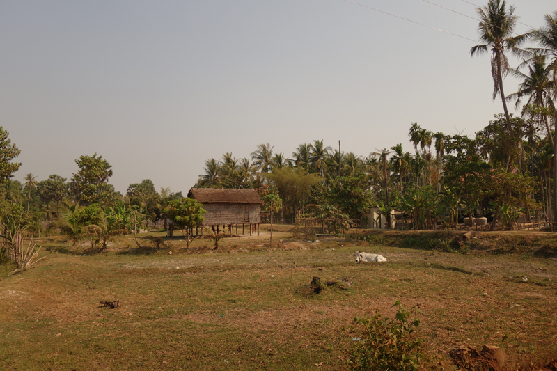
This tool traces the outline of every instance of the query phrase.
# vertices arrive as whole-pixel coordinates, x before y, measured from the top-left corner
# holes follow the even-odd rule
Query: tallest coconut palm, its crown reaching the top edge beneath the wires
[[[476,45],[470,50],[471,56],[485,54],[491,49],[492,52],[492,78],[493,78],[493,100],[499,95],[503,103],[503,111],[507,120],[507,129],[512,131],[510,116],[503,90],[503,77],[509,72],[509,61],[505,51],[520,55],[518,47],[528,39],[529,33],[512,36],[515,31],[518,16],[514,15],[515,7],[508,6],[505,0],[489,0],[487,6],[478,8],[480,24],[478,33],[483,45]]]

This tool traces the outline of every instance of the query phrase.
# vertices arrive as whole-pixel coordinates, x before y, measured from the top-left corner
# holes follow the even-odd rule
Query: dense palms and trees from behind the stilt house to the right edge
[[[226,152],[207,159],[196,187],[278,194],[290,220],[304,214],[359,219],[377,206],[387,219],[394,208],[401,218],[406,214],[413,228],[433,228],[441,219],[456,223],[459,211],[493,216],[492,228],[498,222],[512,228],[520,214],[557,222],[557,12],[523,35],[515,35],[518,16],[505,1],[489,0],[478,17],[483,44],[472,47],[471,56],[490,54],[493,99],[503,104],[483,130],[448,136],[411,123],[413,153],[399,143],[367,157],[322,140],[298,145],[291,157],[263,143],[250,158]],[[516,68],[508,54],[521,58]],[[520,82],[505,95],[508,74]],[[521,108],[520,116],[508,111],[508,102]]]

